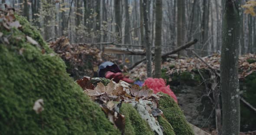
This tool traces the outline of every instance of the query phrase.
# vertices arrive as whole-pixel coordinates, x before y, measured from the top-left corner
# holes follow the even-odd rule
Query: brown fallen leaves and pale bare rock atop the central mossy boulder
[[[102,82],[95,83],[99,78],[83,77],[76,80],[84,92],[91,97],[92,101],[100,104],[103,112],[115,127],[124,131],[125,116],[119,110],[122,103],[129,103],[135,107],[141,118],[146,120],[151,129],[158,135],[163,135],[161,126],[157,122],[157,116],[163,115],[158,109],[159,94],[154,94],[148,87],[131,85],[122,80],[115,83],[113,80],[105,86]]]

